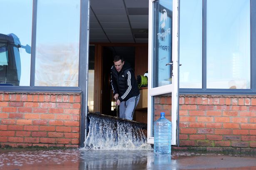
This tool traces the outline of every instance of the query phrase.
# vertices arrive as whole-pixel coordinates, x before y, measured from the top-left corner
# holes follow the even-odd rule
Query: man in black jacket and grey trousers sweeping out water
[[[139,103],[139,88],[132,67],[118,55],[114,56],[111,67],[111,85],[116,105],[119,106],[119,117],[132,120]]]

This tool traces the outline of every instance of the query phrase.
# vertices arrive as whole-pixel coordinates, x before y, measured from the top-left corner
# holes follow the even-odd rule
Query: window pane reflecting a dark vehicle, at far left
[[[32,0],[1,0],[0,84],[30,86]]]

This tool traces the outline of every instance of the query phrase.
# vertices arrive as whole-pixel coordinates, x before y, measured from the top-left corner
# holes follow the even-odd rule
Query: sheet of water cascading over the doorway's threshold
[[[147,125],[97,113],[89,113],[86,149],[152,150],[147,144]]]

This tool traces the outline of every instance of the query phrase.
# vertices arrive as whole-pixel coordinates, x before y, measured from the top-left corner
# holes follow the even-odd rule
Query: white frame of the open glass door
[[[177,145],[177,115],[178,115],[178,4],[179,0],[173,0],[173,12],[172,12],[172,84],[152,88],[152,37],[153,37],[153,3],[155,0],[149,0],[149,60],[148,60],[148,114],[147,114],[147,142],[153,144],[154,137],[152,134],[152,96],[171,93],[171,145]]]

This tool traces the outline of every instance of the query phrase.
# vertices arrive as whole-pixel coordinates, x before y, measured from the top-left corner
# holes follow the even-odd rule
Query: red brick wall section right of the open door
[[[256,148],[256,96],[181,95],[181,146]]]

